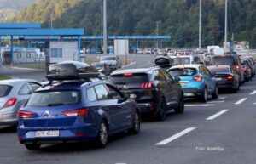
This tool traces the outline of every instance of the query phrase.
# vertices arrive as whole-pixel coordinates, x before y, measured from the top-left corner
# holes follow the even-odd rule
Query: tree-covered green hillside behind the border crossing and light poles
[[[173,47],[198,45],[199,0],[108,0],[109,35],[171,35]],[[224,0],[201,0],[202,45],[224,41]],[[229,40],[250,41],[256,48],[256,0],[229,1]],[[39,0],[15,22],[40,22],[49,27],[82,27],[86,35],[101,35],[102,0]]]

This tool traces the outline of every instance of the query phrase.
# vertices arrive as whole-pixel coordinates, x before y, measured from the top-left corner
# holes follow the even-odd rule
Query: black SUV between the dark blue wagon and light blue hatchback
[[[153,67],[114,71],[108,82],[135,99],[142,114],[153,114],[164,120],[167,110],[183,113],[183,90],[179,80],[161,68]]]

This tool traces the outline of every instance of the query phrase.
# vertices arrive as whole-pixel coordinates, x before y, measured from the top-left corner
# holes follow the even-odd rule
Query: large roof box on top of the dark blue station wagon
[[[95,67],[77,61],[65,61],[49,65],[49,81],[56,80],[77,80],[98,78],[99,73]]]

